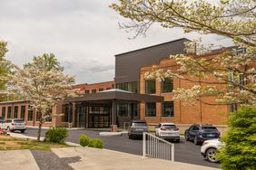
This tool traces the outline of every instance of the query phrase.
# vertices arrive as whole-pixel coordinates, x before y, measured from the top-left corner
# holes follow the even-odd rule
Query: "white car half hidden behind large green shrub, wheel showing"
[[[218,160],[215,158],[216,151],[222,146],[222,142],[218,138],[205,140],[202,143],[201,147],[201,154],[204,158],[209,160],[212,163],[218,162]]]

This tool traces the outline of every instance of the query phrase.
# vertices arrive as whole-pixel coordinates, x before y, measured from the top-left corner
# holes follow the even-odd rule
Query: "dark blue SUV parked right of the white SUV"
[[[192,125],[185,131],[185,139],[192,140],[195,145],[199,145],[204,140],[219,138],[220,132],[217,127],[213,127],[211,124],[206,125]]]

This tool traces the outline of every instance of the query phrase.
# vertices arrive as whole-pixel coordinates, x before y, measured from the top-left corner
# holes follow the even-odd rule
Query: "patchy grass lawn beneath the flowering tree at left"
[[[68,147],[64,144],[55,144],[51,142],[37,142],[36,140],[17,138],[9,136],[0,136],[0,150],[17,150],[17,149],[29,149],[29,150],[44,150],[48,151],[55,147]]]

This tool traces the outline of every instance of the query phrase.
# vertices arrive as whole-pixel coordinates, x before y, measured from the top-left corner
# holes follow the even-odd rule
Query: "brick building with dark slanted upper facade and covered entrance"
[[[144,73],[151,70],[152,65],[177,70],[177,64],[169,56],[185,53],[186,41],[189,40],[179,39],[115,55],[114,81],[75,85],[84,95],[65,99],[55,106],[54,115],[62,113],[63,116],[49,118],[44,127],[123,127],[132,119],[145,119],[152,127],[160,122],[173,122],[183,130],[193,123],[211,123],[222,131],[232,109],[230,106],[209,106],[202,102],[184,106],[183,101],[172,100],[172,90],[188,89],[194,83],[177,79],[144,80]],[[216,55],[218,52],[203,57]],[[213,101],[213,98],[203,100]],[[25,118],[28,126],[37,126],[36,113],[29,109],[28,101],[0,102],[1,116]]]

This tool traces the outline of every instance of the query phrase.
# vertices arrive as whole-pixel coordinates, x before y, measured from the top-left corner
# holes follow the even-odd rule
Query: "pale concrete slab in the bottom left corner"
[[[39,170],[29,150],[0,151],[0,169]]]

